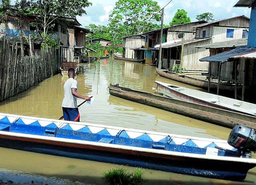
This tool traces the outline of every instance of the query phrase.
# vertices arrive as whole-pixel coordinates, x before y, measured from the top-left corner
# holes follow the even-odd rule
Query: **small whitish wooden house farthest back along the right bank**
[[[142,34],[129,35],[123,39],[123,57],[131,59],[144,59],[145,36]]]

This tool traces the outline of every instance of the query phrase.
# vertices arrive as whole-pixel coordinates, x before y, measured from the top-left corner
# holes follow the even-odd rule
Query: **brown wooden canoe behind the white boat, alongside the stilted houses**
[[[206,80],[193,78],[193,77],[190,77],[190,76],[187,76],[187,75],[184,75],[184,74],[178,74],[178,73],[174,73],[174,72],[171,72],[171,71],[168,71],[168,70],[156,70],[156,72],[159,76],[168,78],[170,80],[185,83],[185,84],[192,85],[192,86],[195,86],[195,87],[199,87],[199,88],[202,88],[202,89],[208,89],[209,81],[206,81]],[[217,88],[218,88],[218,83],[210,82],[210,89],[211,90],[216,90],[217,91]],[[238,90],[241,90],[242,86],[237,86],[237,88],[238,88]],[[219,89],[220,90],[225,90],[225,91],[234,91],[235,85],[220,83],[219,84]]]

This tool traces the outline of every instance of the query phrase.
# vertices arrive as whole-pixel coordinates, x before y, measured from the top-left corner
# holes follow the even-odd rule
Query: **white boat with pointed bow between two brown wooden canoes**
[[[160,91],[173,99],[256,116],[256,104],[155,81]]]

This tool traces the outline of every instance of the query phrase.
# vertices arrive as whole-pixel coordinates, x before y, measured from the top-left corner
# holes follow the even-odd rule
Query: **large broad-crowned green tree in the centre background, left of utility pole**
[[[151,0],[118,0],[109,17],[109,26],[117,37],[140,34],[159,28],[160,6]]]

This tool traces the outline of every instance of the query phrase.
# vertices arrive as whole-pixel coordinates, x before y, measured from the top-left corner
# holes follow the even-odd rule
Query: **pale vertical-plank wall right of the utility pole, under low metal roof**
[[[184,45],[182,67],[192,71],[208,71],[208,62],[200,62],[199,59],[209,56],[209,49],[196,48],[211,43],[211,39],[198,41]]]

